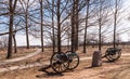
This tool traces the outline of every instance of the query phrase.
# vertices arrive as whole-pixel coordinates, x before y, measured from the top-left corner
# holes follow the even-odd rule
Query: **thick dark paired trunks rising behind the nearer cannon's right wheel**
[[[78,0],[73,1],[72,12],[72,51],[78,49]]]

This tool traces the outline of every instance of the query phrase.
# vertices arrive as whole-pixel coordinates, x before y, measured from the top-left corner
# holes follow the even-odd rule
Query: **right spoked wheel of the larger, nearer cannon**
[[[68,53],[73,54],[72,51],[66,52],[66,54],[68,54]],[[75,55],[73,55],[73,56],[68,56],[68,58],[69,58],[69,61],[68,61],[69,64],[67,67],[68,70],[73,70],[79,65],[79,56],[76,53],[74,53],[74,54]]]

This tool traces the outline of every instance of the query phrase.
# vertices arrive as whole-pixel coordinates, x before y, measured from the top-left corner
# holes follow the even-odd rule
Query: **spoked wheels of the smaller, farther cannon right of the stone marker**
[[[113,52],[113,53],[106,52],[105,55],[109,62],[114,62],[114,61],[117,61],[121,56],[121,51],[117,51],[117,52]]]

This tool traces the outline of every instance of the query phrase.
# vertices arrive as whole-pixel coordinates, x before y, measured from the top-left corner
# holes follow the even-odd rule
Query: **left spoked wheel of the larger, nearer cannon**
[[[56,57],[60,54],[61,53],[54,53],[51,56],[50,64],[51,64],[51,67],[52,67],[52,69],[54,71],[56,71],[56,73],[64,73],[64,71],[66,71],[69,63],[67,63],[67,62],[61,62],[60,58]]]

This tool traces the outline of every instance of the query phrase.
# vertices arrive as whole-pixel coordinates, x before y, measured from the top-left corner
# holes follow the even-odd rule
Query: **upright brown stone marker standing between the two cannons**
[[[92,57],[92,67],[102,66],[102,54],[100,51],[95,51]]]

